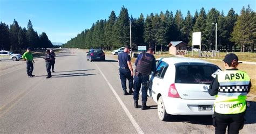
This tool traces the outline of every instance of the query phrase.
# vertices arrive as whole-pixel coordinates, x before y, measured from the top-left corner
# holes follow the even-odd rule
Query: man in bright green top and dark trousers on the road
[[[26,73],[28,74],[28,77],[35,76],[32,75],[34,69],[33,64],[35,64],[35,61],[33,60],[33,55],[29,47],[26,48],[26,52],[22,55],[22,59],[26,61]]]

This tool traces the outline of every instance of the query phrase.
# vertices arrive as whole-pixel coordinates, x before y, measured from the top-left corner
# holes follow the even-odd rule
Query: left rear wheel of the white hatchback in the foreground
[[[158,118],[161,121],[166,121],[167,120],[169,115],[165,111],[165,106],[164,106],[164,101],[163,101],[162,96],[160,96],[159,99],[158,99],[157,112],[158,112]]]

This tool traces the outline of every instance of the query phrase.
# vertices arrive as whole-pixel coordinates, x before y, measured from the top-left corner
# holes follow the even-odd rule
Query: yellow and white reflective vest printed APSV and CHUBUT
[[[224,70],[218,74],[219,89],[214,110],[219,114],[239,114],[246,110],[250,77],[241,70]]]

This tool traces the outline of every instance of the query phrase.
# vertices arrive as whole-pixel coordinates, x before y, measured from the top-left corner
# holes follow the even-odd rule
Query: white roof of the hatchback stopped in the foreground
[[[159,58],[160,59],[160,58]],[[193,59],[193,58],[185,58],[185,57],[169,57],[169,58],[161,58],[162,61],[165,61],[167,64],[180,64],[180,63],[201,63],[201,64],[212,64],[211,62],[200,60],[200,59]],[[212,64],[214,65],[214,64]]]

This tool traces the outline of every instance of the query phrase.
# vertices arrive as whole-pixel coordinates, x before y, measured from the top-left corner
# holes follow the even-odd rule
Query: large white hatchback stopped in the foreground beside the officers
[[[211,76],[218,66],[181,57],[157,59],[148,95],[157,103],[158,117],[169,115],[212,115],[215,97],[208,94]]]

